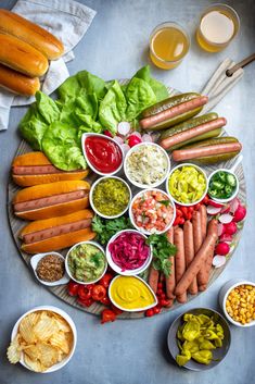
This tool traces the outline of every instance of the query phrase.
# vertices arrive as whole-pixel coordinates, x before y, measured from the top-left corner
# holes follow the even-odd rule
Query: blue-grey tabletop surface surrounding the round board
[[[47,1],[47,0],[46,0]],[[148,62],[148,40],[153,27],[164,21],[177,21],[192,36],[191,50],[176,70],[153,74],[182,91],[199,90],[226,58],[241,60],[255,49],[255,2],[228,1],[241,17],[239,37],[221,53],[203,52],[193,34],[200,12],[208,0],[84,0],[98,14],[76,47],[76,59],[68,64],[71,74],[86,69],[105,79],[129,77]],[[0,7],[11,9],[13,0]],[[167,330],[183,310],[207,306],[217,308],[217,295],[230,277],[255,280],[255,64],[245,70],[241,83],[222,100],[217,112],[228,120],[228,132],[243,143],[244,171],[247,183],[248,215],[239,248],[217,282],[197,299],[174,312],[151,319],[117,321],[100,325],[97,317],[65,305],[37,284],[21,260],[12,240],[7,218],[7,184],[10,164],[20,144],[17,123],[25,108],[12,110],[10,128],[0,133],[0,383],[1,384],[252,384],[255,383],[254,327],[231,327],[232,344],[227,358],[207,372],[180,370],[169,359]],[[11,330],[16,319],[38,305],[53,305],[74,319],[78,330],[77,349],[61,371],[48,374],[13,367],[5,358]]]

